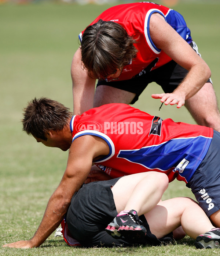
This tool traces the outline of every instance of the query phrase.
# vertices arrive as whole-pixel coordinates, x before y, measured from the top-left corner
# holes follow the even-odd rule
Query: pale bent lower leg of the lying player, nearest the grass
[[[214,228],[198,203],[190,198],[172,198],[159,202],[144,216],[157,238],[164,237],[180,225],[194,239]]]

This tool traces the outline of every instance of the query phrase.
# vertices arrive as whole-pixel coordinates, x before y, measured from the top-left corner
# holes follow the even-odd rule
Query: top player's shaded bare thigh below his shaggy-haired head
[[[95,90],[94,107],[108,103],[129,104],[135,97],[135,93],[127,92],[107,85],[100,85]]]

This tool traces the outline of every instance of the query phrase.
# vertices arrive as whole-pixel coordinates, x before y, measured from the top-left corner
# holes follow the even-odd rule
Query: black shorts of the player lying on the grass
[[[114,239],[104,230],[117,215],[113,193],[113,186],[120,178],[110,181],[91,182],[73,195],[71,205],[67,212],[66,222],[72,237],[85,247],[91,246],[132,246],[161,245],[155,235],[151,234],[146,218],[142,215],[147,235],[142,241],[129,241],[128,239]]]

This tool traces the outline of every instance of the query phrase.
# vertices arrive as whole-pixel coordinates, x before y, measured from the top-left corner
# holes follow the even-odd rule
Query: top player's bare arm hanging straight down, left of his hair
[[[74,115],[93,108],[96,79],[88,77],[83,70],[80,48],[73,56],[71,65],[71,77],[73,82],[73,111]]]

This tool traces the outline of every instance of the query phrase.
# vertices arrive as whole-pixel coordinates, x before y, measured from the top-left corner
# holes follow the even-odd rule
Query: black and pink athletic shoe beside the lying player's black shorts
[[[105,229],[114,238],[143,238],[147,230],[135,210],[121,211]]]

